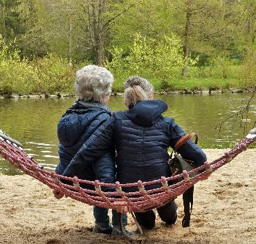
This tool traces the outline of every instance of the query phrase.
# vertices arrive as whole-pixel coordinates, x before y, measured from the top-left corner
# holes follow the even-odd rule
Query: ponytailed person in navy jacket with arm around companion
[[[84,143],[82,152],[78,152],[66,167],[64,176],[70,176],[73,170],[82,167],[84,162],[95,161],[116,147],[117,173],[120,183],[154,181],[161,176],[170,177],[167,164],[168,148],[174,148],[185,132],[173,118],[164,117],[167,110],[164,101],[153,100],[154,88],[149,81],[141,77],[130,77],[125,82],[124,101],[129,110],[118,111]],[[178,152],[184,159],[193,161],[196,166],[206,161],[204,152],[192,140],[187,141]],[[145,190],[161,187],[161,183],[145,185]],[[123,191],[138,191],[137,187],[125,187]],[[118,211],[127,213],[128,207],[119,207]],[[176,223],[177,206],[174,201],[156,209],[161,220],[167,224]],[[136,212],[140,225],[154,227],[156,214],[153,210]]]

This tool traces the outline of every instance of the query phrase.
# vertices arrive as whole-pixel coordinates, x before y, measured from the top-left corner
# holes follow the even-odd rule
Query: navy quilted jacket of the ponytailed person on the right
[[[115,112],[84,143],[64,174],[68,175],[70,170],[80,167],[81,161],[95,161],[114,144],[118,153],[116,179],[120,183],[153,181],[161,179],[161,176],[170,176],[167,148],[174,148],[185,132],[173,118],[162,116],[166,110],[164,101],[148,100],[138,101],[124,112]],[[204,152],[192,140],[182,145],[178,152],[184,159],[194,161],[196,166],[206,161]],[[156,185],[145,189],[152,187]],[[138,191],[138,188],[130,188],[129,191]]]

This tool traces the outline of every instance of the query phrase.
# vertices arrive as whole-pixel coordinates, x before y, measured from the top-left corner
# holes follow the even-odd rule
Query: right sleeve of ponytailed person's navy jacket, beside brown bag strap
[[[174,148],[174,145],[179,139],[185,135],[185,132],[179,127],[179,125],[172,119],[170,124],[170,146]],[[206,155],[201,148],[196,145],[191,139],[184,143],[177,152],[181,154],[183,159],[188,159],[193,162],[196,167],[199,167],[207,161]]]

